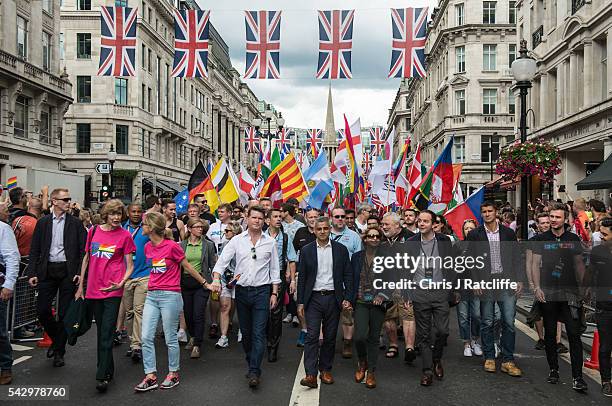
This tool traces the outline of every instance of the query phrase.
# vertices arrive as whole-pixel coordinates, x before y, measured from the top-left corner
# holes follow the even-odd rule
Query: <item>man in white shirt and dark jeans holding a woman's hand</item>
[[[270,309],[278,304],[280,266],[274,238],[262,233],[266,216],[261,206],[247,214],[247,231],[227,243],[213,269],[213,286],[221,286],[221,274],[236,260],[236,310],[247,355],[249,387],[256,388],[266,350],[266,324]]]

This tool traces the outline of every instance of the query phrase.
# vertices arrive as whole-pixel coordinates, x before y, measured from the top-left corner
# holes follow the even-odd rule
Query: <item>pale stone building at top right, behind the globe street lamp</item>
[[[538,64],[529,89],[530,139],[561,150],[562,172],[532,194],[563,200],[606,199],[610,191],[577,191],[576,182],[612,153],[612,2],[517,1],[518,33]]]

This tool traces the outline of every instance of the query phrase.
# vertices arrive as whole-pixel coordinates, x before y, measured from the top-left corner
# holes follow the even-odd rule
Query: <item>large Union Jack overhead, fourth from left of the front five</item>
[[[317,79],[350,79],[355,10],[319,10]]]

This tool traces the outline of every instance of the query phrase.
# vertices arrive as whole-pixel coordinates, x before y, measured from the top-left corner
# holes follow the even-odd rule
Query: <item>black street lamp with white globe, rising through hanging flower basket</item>
[[[521,133],[521,143],[527,141],[527,89],[531,87],[531,81],[536,74],[538,69],[535,59],[527,55],[527,41],[521,40],[521,47],[519,50],[520,57],[512,62],[511,70],[514,80],[516,80],[516,87],[519,89],[519,96],[521,98],[521,117],[519,124],[519,131]],[[523,174],[521,177],[521,238],[527,240],[527,176]]]

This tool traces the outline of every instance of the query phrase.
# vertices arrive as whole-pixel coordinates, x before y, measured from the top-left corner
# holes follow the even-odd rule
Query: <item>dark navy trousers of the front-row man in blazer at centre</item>
[[[340,307],[336,296],[312,292],[306,307],[306,338],[304,339],[304,369],[307,375],[331,371],[336,351],[336,335],[340,322]],[[323,345],[319,347],[319,332],[323,324]]]

